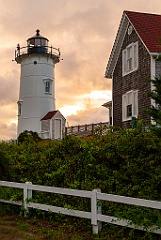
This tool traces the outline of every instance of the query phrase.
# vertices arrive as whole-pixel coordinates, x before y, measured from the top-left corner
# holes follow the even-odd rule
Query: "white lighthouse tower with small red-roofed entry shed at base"
[[[15,61],[21,65],[17,102],[18,136],[28,130],[36,131],[42,138],[62,137],[65,118],[55,109],[54,77],[55,64],[60,61],[60,51],[48,43],[49,40],[41,36],[38,29],[36,35],[27,39],[25,47],[17,44],[15,50]],[[54,116],[60,120],[59,124],[58,122],[54,124]],[[59,128],[56,137],[54,137],[55,125]]]

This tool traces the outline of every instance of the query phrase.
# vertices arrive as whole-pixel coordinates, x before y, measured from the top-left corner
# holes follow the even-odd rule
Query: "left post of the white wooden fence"
[[[28,189],[28,185],[32,184],[32,182],[25,182],[23,189],[23,203],[24,203],[24,216],[26,217],[29,213],[28,209],[28,199],[32,198],[32,190]]]

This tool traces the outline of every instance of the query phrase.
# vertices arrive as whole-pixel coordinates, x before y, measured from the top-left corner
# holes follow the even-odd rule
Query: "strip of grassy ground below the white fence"
[[[158,240],[159,235],[103,224],[100,234],[93,235],[89,220],[64,215],[30,215],[4,213],[0,208],[0,240]],[[3,212],[3,213],[2,213]]]

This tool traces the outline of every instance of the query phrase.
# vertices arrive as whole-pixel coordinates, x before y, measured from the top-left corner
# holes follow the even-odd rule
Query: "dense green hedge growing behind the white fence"
[[[161,139],[141,123],[136,129],[109,131],[101,138],[95,134],[87,139],[68,136],[62,141],[1,143],[0,151],[2,159],[7,159],[3,161],[6,171],[7,162],[10,166],[9,175],[3,176],[7,181],[82,190],[100,188],[104,193],[161,200]],[[10,172],[12,178],[8,177]],[[33,192],[32,201],[90,211],[90,201],[79,197]],[[102,202],[102,207],[108,215],[127,218],[145,228],[161,225],[159,210],[108,202]]]

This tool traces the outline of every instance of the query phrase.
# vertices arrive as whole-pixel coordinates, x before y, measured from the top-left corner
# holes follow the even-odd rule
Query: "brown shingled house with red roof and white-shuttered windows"
[[[147,96],[152,85],[147,79],[161,75],[161,16],[124,11],[106,67],[105,77],[112,78],[111,125],[128,128],[132,119],[151,121],[147,108],[154,104]]]

